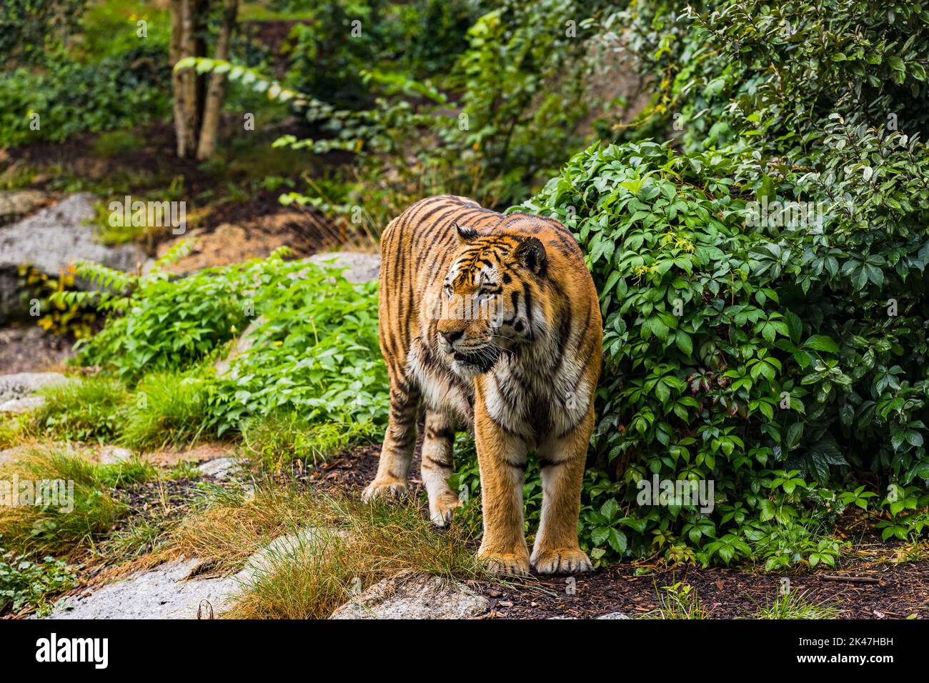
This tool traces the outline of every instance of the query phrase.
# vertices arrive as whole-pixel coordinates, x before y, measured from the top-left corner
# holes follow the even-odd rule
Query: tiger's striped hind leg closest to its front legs
[[[449,487],[454,472],[455,420],[451,415],[427,408],[423,439],[423,485],[429,495],[429,519],[438,527],[451,522],[460,506],[458,494]]]

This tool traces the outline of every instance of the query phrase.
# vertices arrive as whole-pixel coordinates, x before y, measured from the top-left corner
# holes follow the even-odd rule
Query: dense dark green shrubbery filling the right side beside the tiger
[[[848,509],[914,539],[929,521],[929,15],[673,10],[636,3],[608,22],[660,85],[629,141],[575,156],[517,207],[574,230],[600,291],[582,523],[606,543],[591,543],[831,563]],[[713,512],[639,505],[634,485],[653,477],[713,481]]]

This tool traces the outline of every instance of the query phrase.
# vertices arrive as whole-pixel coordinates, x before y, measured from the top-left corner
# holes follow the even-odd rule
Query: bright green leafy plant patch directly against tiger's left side
[[[252,416],[296,412],[312,422],[386,424],[387,379],[377,331],[377,282],[332,269],[282,266],[258,294],[254,345],[216,380],[218,432]]]

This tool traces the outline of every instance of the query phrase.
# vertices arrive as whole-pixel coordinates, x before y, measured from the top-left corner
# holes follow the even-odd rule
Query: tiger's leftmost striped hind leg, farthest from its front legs
[[[382,495],[399,495],[407,489],[412,452],[416,446],[416,416],[421,393],[404,376],[390,377],[390,413],[381,447],[377,475],[361,498],[365,502]]]

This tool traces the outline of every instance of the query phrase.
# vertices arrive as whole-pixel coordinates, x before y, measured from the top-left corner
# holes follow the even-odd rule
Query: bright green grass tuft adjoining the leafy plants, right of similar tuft
[[[203,379],[152,374],[136,387],[126,411],[121,442],[138,451],[194,443],[210,421]]]

